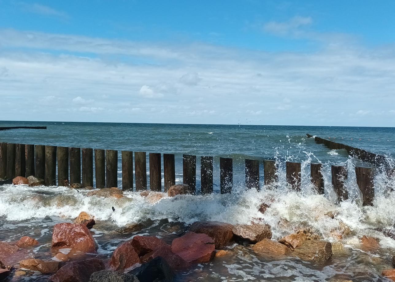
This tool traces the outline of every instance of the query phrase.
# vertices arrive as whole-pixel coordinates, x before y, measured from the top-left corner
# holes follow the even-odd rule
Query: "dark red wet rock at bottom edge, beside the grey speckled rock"
[[[94,272],[104,269],[103,261],[97,258],[71,261],[60,267],[54,275],[49,277],[49,280],[53,282],[87,282]]]

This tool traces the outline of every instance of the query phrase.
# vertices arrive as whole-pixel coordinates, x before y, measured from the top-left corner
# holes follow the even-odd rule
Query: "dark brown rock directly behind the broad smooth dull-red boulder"
[[[217,250],[223,249],[233,241],[232,229],[233,225],[231,224],[215,221],[197,221],[189,227],[189,231],[205,233],[213,238]]]

